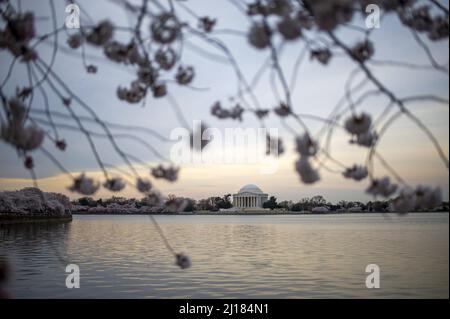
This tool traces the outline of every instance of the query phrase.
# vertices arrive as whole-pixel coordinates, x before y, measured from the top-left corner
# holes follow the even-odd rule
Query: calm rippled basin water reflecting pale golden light
[[[0,226],[15,298],[448,298],[449,215],[148,216]],[[65,264],[80,267],[66,288]],[[377,264],[380,289],[367,289]]]

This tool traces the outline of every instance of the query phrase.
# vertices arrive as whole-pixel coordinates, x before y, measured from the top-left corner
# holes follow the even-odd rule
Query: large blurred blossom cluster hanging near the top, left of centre
[[[213,27],[213,23],[203,18],[207,29]],[[136,79],[129,87],[119,86],[116,90],[120,100],[130,104],[140,103],[151,91],[154,98],[162,98],[167,95],[167,81],[162,80],[162,73],[174,69],[179,63],[179,56],[170,46],[180,38],[181,25],[177,18],[169,13],[164,13],[153,18],[149,30],[155,45],[160,47],[150,56],[148,50],[142,45],[142,40],[134,36],[129,42],[121,43],[114,40],[115,26],[108,20],[99,22],[92,29],[81,29],[79,33],[72,34],[67,39],[67,44],[72,49],[78,49],[84,43],[103,48],[103,53],[109,60],[124,65],[132,65],[137,68]],[[97,67],[87,66],[89,73],[96,73]],[[179,65],[174,81],[179,85],[189,85],[194,80],[195,70],[192,66]]]

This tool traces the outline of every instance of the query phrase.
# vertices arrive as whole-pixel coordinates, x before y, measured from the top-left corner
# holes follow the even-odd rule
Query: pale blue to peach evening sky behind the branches
[[[38,33],[43,34],[49,29],[50,7],[48,1],[22,1],[23,9],[31,9],[38,17]],[[65,17],[63,1],[58,3],[57,12],[59,25],[62,25]],[[111,1],[79,1],[89,12],[95,21],[108,18],[115,25],[128,25],[127,15]],[[249,22],[236,7],[226,0],[189,0],[189,7],[200,16],[209,15],[218,17],[217,30],[233,29],[245,31]],[[29,8],[32,6],[31,8]],[[82,13],[83,14],[86,13]],[[86,18],[86,17],[84,17]],[[83,21],[86,21],[83,19]],[[363,21],[355,20],[354,24],[364,26]],[[340,30],[339,35],[346,43],[355,43],[361,39],[361,35],[352,30]],[[259,67],[268,57],[267,51],[256,51],[248,46],[246,38],[236,34],[218,33],[218,38],[227,43],[244,74],[251,79]],[[116,38],[126,40],[123,33],[116,33]],[[375,59],[377,60],[402,60],[404,62],[426,64],[427,58],[423,50],[414,41],[411,33],[403,28],[394,16],[386,16],[382,20],[381,29],[375,31],[373,40],[376,43]],[[204,42],[188,38],[189,43],[195,44],[204,50],[220,54],[214,48],[207,46]],[[65,45],[65,35],[60,34],[59,42]],[[295,42],[285,47],[282,52],[282,66],[290,78],[293,65],[302,48],[302,44]],[[433,52],[438,61],[448,61],[448,41],[432,45]],[[51,56],[51,45],[42,45],[40,56],[49,60]],[[145,107],[141,105],[130,105],[119,101],[115,91],[118,86],[128,86],[135,76],[132,67],[113,64],[102,58],[100,49],[89,49],[87,51],[88,61],[98,66],[96,75],[86,74],[80,52],[74,54],[59,52],[54,70],[66,83],[84,99],[97,114],[104,120],[126,125],[140,125],[150,127],[162,135],[169,137],[173,129],[180,127],[172,107],[166,100],[147,99]],[[97,57],[97,58],[96,58]],[[11,57],[9,53],[0,53],[0,74],[2,78],[6,74]],[[225,128],[245,127],[257,128],[258,122],[254,116],[246,114],[242,123],[233,121],[219,121],[210,116],[211,106],[216,101],[222,101],[224,106],[230,106],[229,97],[236,93],[236,78],[233,69],[216,61],[205,59],[192,47],[185,45],[183,50],[183,64],[194,65],[196,78],[194,86],[204,90],[191,90],[179,88],[169,84],[169,90],[177,99],[183,109],[183,113],[190,123],[193,120],[206,119],[210,127],[215,127],[224,132]],[[344,84],[353,70],[354,65],[348,58],[337,56],[327,67],[317,62],[306,59],[302,65],[297,86],[293,94],[293,104],[298,113],[307,113],[326,117],[332,111],[337,101],[344,93]],[[436,94],[448,99],[448,75],[429,70],[409,70],[398,67],[380,66],[373,68],[374,73],[383,83],[391,88],[398,96],[405,97],[418,94]],[[16,85],[26,85],[24,68],[18,65],[13,73],[10,84],[5,92],[13,94]],[[255,89],[255,94],[262,102],[263,107],[272,108],[277,104],[277,99],[270,89],[270,73],[266,73],[260,84]],[[53,110],[64,112],[59,99],[50,95],[50,105]],[[43,109],[42,97],[37,94],[35,107]],[[362,109],[373,115],[378,115],[387,104],[385,98],[368,99]],[[449,123],[448,105],[433,103],[417,103],[408,106],[437,136],[448,156],[449,145]],[[81,109],[77,111],[83,114]],[[321,125],[317,122],[305,120],[311,127],[313,133],[317,132]],[[290,123],[298,132],[300,127]],[[257,184],[263,191],[275,195],[280,199],[298,200],[302,197],[321,194],[330,201],[346,200],[368,200],[364,194],[367,181],[354,183],[344,180],[339,174],[321,171],[322,180],[317,185],[305,186],[299,181],[294,170],[296,154],[294,152],[292,135],[281,125],[278,118],[271,116],[267,121],[268,127],[279,128],[279,133],[285,137],[287,153],[280,158],[278,169],[271,174],[261,174],[260,165],[256,164],[192,164],[186,165],[180,174],[177,183],[157,182],[157,186],[164,193],[175,193],[180,196],[189,196],[196,199],[209,196],[235,193],[245,184]],[[95,128],[95,126],[90,126]],[[98,128],[97,128],[98,130]],[[84,136],[71,131],[61,131],[68,142],[68,149],[64,153],[57,152],[57,158],[64,163],[66,168],[73,172],[89,172],[89,175],[98,176],[98,166],[92,153],[89,151]],[[158,142],[156,139],[139,133],[149,143],[152,143],[160,153],[169,156],[170,145]],[[341,162],[349,166],[355,163],[364,163],[367,153],[366,149],[349,145],[349,136],[345,132],[336,131],[333,137],[332,154]],[[105,139],[95,139],[105,162],[109,164],[123,165],[121,159],[114,154],[111,145]],[[121,147],[127,152],[136,154],[148,163],[154,163],[156,158],[153,154],[144,150],[139,144],[130,140],[118,140]],[[45,144],[47,149],[54,150],[51,143]],[[218,146],[212,146],[212,152]],[[224,153],[227,149],[222,149]],[[379,151],[406,181],[411,185],[430,184],[439,185],[444,190],[444,197],[448,199],[448,171],[437,156],[435,149],[429,140],[417,126],[406,119],[399,120],[393,129],[388,131],[379,146]],[[0,188],[4,190],[17,189],[32,185],[28,172],[18,161],[14,150],[0,142]],[[58,168],[52,165],[45,157],[36,151],[36,172],[39,177],[39,185],[48,191],[63,192],[71,197],[66,190],[70,181],[60,173]],[[376,165],[376,174],[386,174],[380,165]],[[148,172],[143,169],[143,174]],[[127,188],[123,196],[140,196],[132,188]],[[98,197],[111,196],[107,191],[100,191]]]

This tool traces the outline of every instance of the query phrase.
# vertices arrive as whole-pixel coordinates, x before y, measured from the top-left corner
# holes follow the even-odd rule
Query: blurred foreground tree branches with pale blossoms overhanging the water
[[[71,2],[71,1],[68,1]],[[145,105],[147,99],[167,99],[177,112],[180,123],[187,127],[184,119],[183,107],[171,95],[172,85],[195,89],[193,83],[196,78],[195,65],[185,65],[182,61],[183,44],[188,37],[202,41],[205,48],[214,49],[222,54],[224,60],[235,72],[237,92],[230,107],[224,107],[222,102],[211,106],[212,116],[219,119],[243,121],[243,114],[253,114],[265,127],[269,116],[280,118],[280,123],[286,125],[286,119],[293,119],[300,129],[290,128],[293,140],[297,144],[298,160],[293,163],[293,169],[299,174],[301,183],[314,184],[321,178],[321,170],[330,170],[330,166],[338,167],[342,178],[357,182],[367,181],[367,193],[376,197],[396,197],[395,206],[404,212],[415,208],[431,208],[442,202],[442,192],[433,186],[408,185],[397,174],[395,169],[384,160],[377,147],[387,130],[391,129],[399,118],[407,118],[428,137],[436,149],[437,156],[448,170],[448,156],[432,131],[408,107],[410,103],[422,101],[433,102],[448,106],[448,99],[432,93],[400,97],[389,86],[383,83],[372,71],[376,65],[387,63],[396,67],[426,68],[434,72],[443,73],[448,81],[448,65],[441,65],[435,59],[434,52],[427,41],[448,41],[449,11],[437,0],[257,0],[244,2],[228,1],[236,7],[249,21],[248,30],[230,30],[244,35],[248,43],[248,50],[256,50],[267,54],[265,63],[253,81],[244,74],[240,61],[235,57],[227,45],[215,34],[215,28],[221,17],[198,15],[190,8],[188,1],[181,0],[143,0],[136,3],[128,1],[114,1],[132,17],[128,26],[115,25],[113,20],[82,21],[78,31],[69,32],[65,43],[61,42],[61,34],[67,29],[59,26],[55,3],[49,0],[51,32],[42,33],[36,27],[36,17],[33,12],[22,11],[20,2],[0,1],[1,54],[9,54],[13,62],[0,83],[1,139],[13,146],[25,169],[29,170],[36,183],[34,152],[42,152],[62,172],[73,181],[68,188],[75,193],[90,196],[101,187],[112,192],[120,192],[127,184],[136,187],[140,192],[161,201],[161,194],[153,187],[151,179],[164,179],[175,182],[180,168],[167,161],[158,153],[157,149],[148,141],[129,134],[140,145],[147,148],[158,158],[161,164],[150,166],[137,156],[125,152],[118,139],[118,128],[126,125],[103,121],[95,110],[81,98],[64,80],[62,74],[54,69],[55,57],[60,52],[70,50],[82,52],[81,59],[87,73],[95,74],[97,66],[87,62],[84,53],[87,47],[96,48],[103,54],[104,59],[117,64],[118,68],[132,69],[135,72],[131,83],[111,88],[111,94],[117,95],[121,101],[129,104]],[[383,14],[396,15],[402,27],[408,29],[417,48],[423,50],[427,57],[427,65],[415,65],[406,62],[375,61],[373,56],[376,45],[371,40],[374,29],[366,29],[352,25],[357,17],[364,17],[368,4],[378,5]],[[86,8],[81,11],[88,12]],[[181,14],[182,13],[182,14]],[[183,17],[188,15],[196,25],[192,25]],[[363,37],[358,43],[347,44],[337,32],[340,28],[352,28]],[[128,34],[128,41],[119,41],[117,32]],[[381,29],[380,32],[389,32]],[[427,40],[424,40],[426,38]],[[41,55],[44,43],[52,45],[52,55],[49,61]],[[318,117],[312,114],[298,113],[292,101],[292,91],[295,81],[290,85],[286,70],[281,63],[280,47],[285,43],[302,45],[304,47],[299,59],[293,67],[294,77],[299,72],[304,57],[309,55],[310,63],[319,63],[324,68],[333,62],[335,56],[346,56],[353,62],[355,69],[351,72],[345,86],[345,93],[328,117]],[[199,50],[205,59],[213,59]],[[26,73],[22,75],[23,83],[17,86],[15,92],[6,90],[6,84],[16,75],[17,65],[26,66]],[[280,97],[279,105],[271,107],[264,105],[256,96],[253,84],[260,78],[260,74],[270,70],[273,79],[281,88],[282,93],[271,90]],[[363,76],[355,83],[356,76]],[[36,108],[35,95],[42,95],[45,101],[45,111]],[[103,93],[102,93],[103,94]],[[49,96],[56,96],[60,104],[49,105]],[[384,96],[388,105],[377,118],[360,110],[365,101],[373,96]],[[222,97],[220,97],[222,98]],[[208,106],[205,106],[208,107]],[[306,111],[306,110],[305,110]],[[323,128],[317,135],[313,135],[305,119],[315,119],[323,123]],[[92,131],[87,124],[95,124],[101,132]],[[127,127],[130,131],[145,131],[153,137],[169,142],[167,138],[149,127]],[[206,127],[205,127],[206,128]],[[94,154],[104,180],[98,181],[85,174],[73,176],[54,156],[55,152],[69,152],[70,145],[64,140],[62,129],[78,131],[87,140],[91,152]],[[367,149],[365,163],[341,163],[333,157],[330,149],[331,136],[337,129],[348,133],[350,143],[355,147]],[[202,129],[203,130],[203,129]],[[193,134],[194,135],[194,132]],[[108,140],[115,153],[126,165],[126,170],[110,167],[99,151],[94,137],[102,136]],[[267,137],[268,145],[272,145],[271,136]],[[44,148],[44,140],[50,140],[54,149]],[[277,152],[283,153],[283,141],[277,143]],[[205,145],[196,151],[201,151]],[[273,150],[268,151],[268,154]],[[390,176],[377,176],[374,162],[384,166]],[[136,164],[147,165],[148,176],[141,176]],[[118,171],[119,174],[113,174]],[[119,176],[117,176],[119,175]],[[180,209],[183,203],[175,203]],[[156,227],[164,237],[162,230]],[[184,254],[175,253],[168,241],[165,243],[174,254],[176,263],[181,268],[190,265],[189,258]]]

